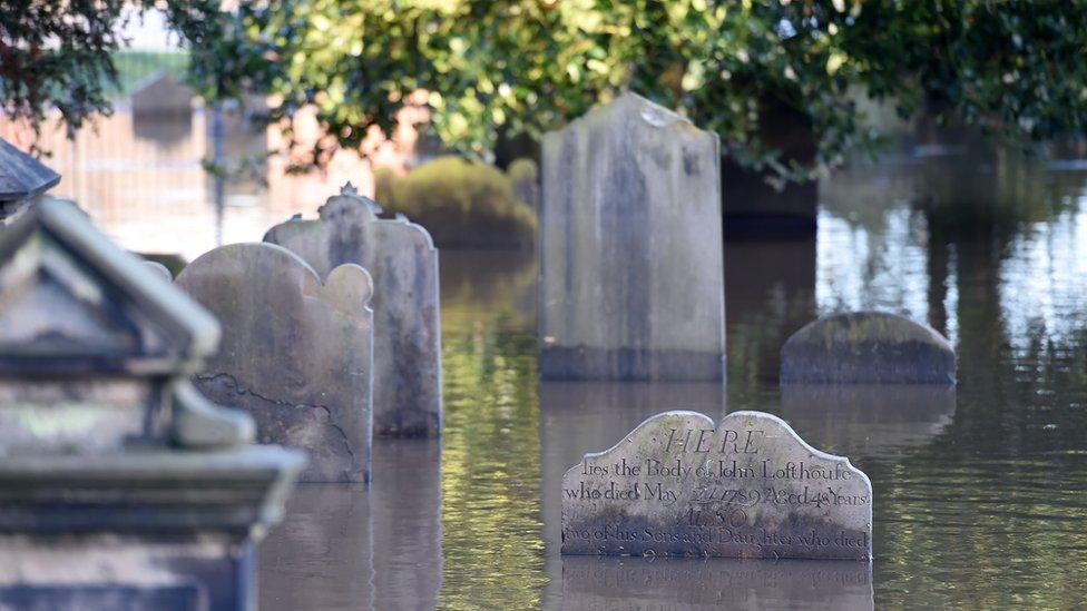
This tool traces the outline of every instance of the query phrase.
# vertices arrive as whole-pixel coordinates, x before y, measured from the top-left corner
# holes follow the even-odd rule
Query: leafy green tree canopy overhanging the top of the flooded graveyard
[[[156,4],[141,0],[141,6]],[[392,127],[419,89],[433,130],[482,154],[499,131],[539,135],[629,88],[717,131],[724,151],[803,179],[878,140],[860,95],[1029,144],[1087,124],[1087,0],[242,0],[167,2],[209,98],[263,93],[267,121],[316,109],[336,147]],[[72,125],[108,108],[121,0],[0,0],[3,111]],[[157,4],[156,4],[157,6]],[[62,42],[61,42],[62,41]],[[97,87],[97,88],[96,88]],[[814,159],[765,137],[802,116]]]

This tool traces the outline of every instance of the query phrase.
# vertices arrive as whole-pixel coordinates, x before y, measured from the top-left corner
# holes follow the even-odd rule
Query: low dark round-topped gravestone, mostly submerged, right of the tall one
[[[781,383],[954,384],[954,351],[932,327],[885,312],[820,318],[782,347]]]

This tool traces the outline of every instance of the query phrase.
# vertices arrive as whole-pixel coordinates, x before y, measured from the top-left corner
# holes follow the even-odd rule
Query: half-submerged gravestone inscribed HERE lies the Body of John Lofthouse
[[[567,471],[562,553],[869,560],[872,484],[776,416],[666,412]]]

